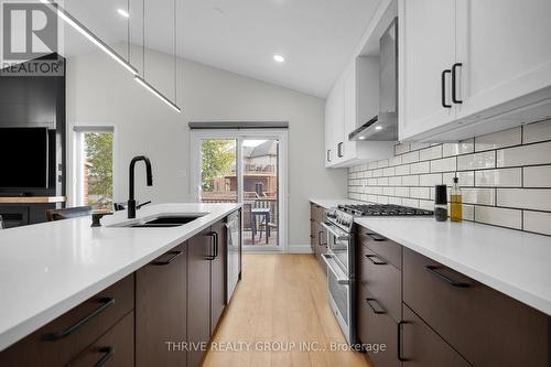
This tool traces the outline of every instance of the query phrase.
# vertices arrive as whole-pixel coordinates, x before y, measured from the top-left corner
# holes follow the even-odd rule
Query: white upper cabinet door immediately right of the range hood
[[[450,68],[455,63],[455,2],[406,0],[399,3],[400,139],[456,117],[450,88]]]

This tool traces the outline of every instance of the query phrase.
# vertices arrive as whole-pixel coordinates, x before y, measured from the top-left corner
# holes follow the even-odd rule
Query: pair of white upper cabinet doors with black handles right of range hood
[[[400,0],[400,140],[551,115],[550,0]]]

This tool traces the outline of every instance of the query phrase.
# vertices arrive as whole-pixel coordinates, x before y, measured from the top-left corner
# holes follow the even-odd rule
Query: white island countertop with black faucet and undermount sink
[[[172,228],[118,228],[126,212],[0,230],[0,350],[238,209],[239,204],[159,204],[137,218],[205,214]]]

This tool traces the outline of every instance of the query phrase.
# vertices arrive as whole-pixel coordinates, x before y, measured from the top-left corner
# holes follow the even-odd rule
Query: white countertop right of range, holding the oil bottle
[[[434,218],[355,222],[551,315],[551,237]]]

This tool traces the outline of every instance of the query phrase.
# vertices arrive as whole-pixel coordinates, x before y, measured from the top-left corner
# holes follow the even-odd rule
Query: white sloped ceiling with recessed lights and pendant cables
[[[176,0],[179,55],[325,97],[380,0]],[[142,44],[142,0],[130,0],[132,43]],[[108,43],[127,41],[127,0],[67,1]],[[145,44],[173,53],[173,0],[145,1]],[[77,48],[77,47],[75,47]],[[281,54],[285,62],[273,61]]]

